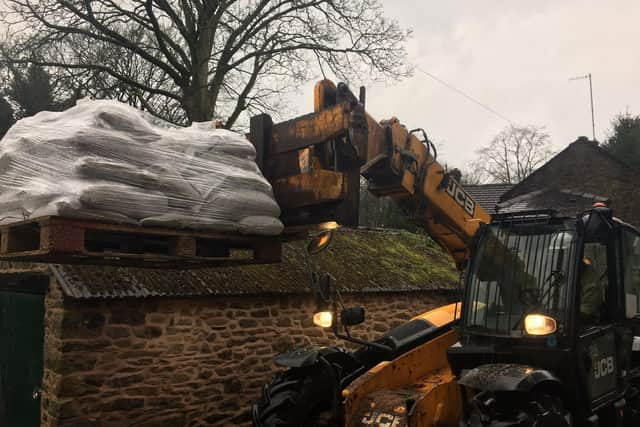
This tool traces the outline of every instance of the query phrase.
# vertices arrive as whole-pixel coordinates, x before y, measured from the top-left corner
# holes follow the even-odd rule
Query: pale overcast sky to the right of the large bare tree
[[[409,60],[516,124],[546,126],[556,149],[596,138],[627,109],[640,114],[640,1],[383,0],[385,13],[413,29]],[[295,97],[298,112],[312,91]],[[367,87],[367,110],[423,127],[440,159],[465,166],[507,123],[416,70],[393,85]]]

